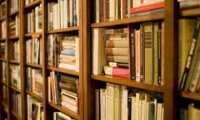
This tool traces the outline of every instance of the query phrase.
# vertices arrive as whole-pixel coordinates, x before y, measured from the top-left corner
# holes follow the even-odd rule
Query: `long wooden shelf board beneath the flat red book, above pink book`
[[[127,25],[132,23],[138,23],[138,22],[146,22],[146,21],[154,21],[154,20],[162,20],[164,19],[164,13],[160,14],[153,14],[153,15],[144,15],[139,17],[133,17],[133,18],[126,18],[121,20],[114,20],[109,22],[101,22],[101,23],[92,23],[91,27],[112,27],[112,26],[119,26],[119,25]]]

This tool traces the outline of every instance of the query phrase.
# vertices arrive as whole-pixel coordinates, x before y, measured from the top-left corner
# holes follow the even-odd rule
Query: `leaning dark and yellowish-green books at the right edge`
[[[185,28],[180,33],[179,43],[179,90],[200,91],[200,19],[180,21]],[[189,29],[189,30],[188,30]],[[184,37],[185,36],[185,37]]]

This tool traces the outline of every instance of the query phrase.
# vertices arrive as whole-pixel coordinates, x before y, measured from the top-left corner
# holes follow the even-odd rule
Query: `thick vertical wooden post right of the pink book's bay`
[[[165,0],[164,41],[162,44],[164,63],[164,120],[177,120],[177,80],[178,80],[178,36],[177,6],[174,0]]]

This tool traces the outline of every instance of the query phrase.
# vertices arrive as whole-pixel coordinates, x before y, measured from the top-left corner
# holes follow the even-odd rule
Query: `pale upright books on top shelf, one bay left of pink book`
[[[79,0],[49,2],[48,11],[48,30],[63,29],[79,24]]]

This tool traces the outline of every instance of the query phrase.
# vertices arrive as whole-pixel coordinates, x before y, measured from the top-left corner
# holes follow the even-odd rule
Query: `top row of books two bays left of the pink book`
[[[42,4],[27,13],[26,22],[26,33],[42,32]]]

